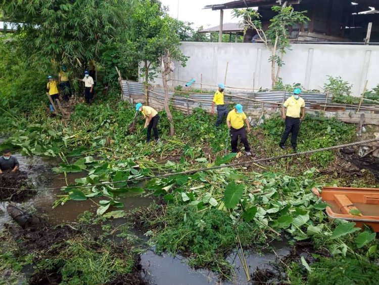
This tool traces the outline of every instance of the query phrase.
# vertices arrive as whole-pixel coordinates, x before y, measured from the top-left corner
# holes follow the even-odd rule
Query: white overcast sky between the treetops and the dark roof
[[[171,17],[184,22],[194,23],[193,28],[200,26],[213,27],[220,24],[220,10],[203,9],[207,5],[223,4],[230,0],[161,0],[164,6],[169,7]],[[179,4],[179,10],[178,10]],[[231,9],[224,10],[224,23],[238,23],[238,19],[232,18]],[[178,13],[179,12],[179,13]]]

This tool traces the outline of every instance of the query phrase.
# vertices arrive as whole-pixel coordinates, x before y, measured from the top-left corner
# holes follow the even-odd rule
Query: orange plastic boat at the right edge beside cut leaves
[[[379,189],[323,187],[319,192],[313,187],[312,192],[328,204],[328,217],[355,222],[360,228],[367,225],[379,232]],[[351,210],[358,210],[360,214],[352,215]]]

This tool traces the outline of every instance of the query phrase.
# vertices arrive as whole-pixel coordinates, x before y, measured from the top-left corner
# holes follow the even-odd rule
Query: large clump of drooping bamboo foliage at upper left
[[[30,61],[65,64],[79,75],[128,26],[136,0],[0,1]]]

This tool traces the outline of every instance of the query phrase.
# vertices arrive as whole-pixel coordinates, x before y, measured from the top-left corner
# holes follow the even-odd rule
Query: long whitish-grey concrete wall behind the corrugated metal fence
[[[270,52],[263,44],[184,42],[181,50],[189,59],[185,67],[176,64],[176,80],[195,78],[200,83],[203,74],[204,85],[223,83],[229,62],[226,86],[271,88]],[[280,72],[283,83],[301,83],[310,90],[322,91],[326,75],[348,80],[355,96],[363,92],[366,80],[369,89],[379,84],[379,46],[294,44],[283,61],[285,65]],[[184,84],[175,82],[175,85]],[[199,85],[194,87],[199,88]]]

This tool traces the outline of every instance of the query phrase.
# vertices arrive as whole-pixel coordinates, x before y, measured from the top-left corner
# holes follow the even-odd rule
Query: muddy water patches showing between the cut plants
[[[21,170],[26,171],[28,177],[33,181],[37,188],[56,188],[62,187],[67,183],[73,183],[76,178],[85,177],[86,173],[70,173],[67,178],[63,174],[56,174],[52,172],[52,168],[56,167],[60,162],[55,158],[42,158],[39,156],[25,157],[15,154],[19,159]],[[68,201],[64,206],[58,206],[52,209],[53,202],[56,195],[62,194],[60,190],[53,191],[38,191],[37,194],[30,200],[17,204],[16,206],[34,211],[37,215],[45,218],[50,224],[62,224],[67,222],[75,222],[77,216],[84,211],[96,212],[98,206],[95,202],[100,198],[86,201]],[[123,210],[128,211],[136,207],[147,207],[152,198],[144,196],[119,196],[119,199],[124,204]],[[7,202],[0,202],[0,227],[7,223],[11,218],[6,213]],[[120,208],[111,209],[120,210]],[[112,220],[115,226],[125,223],[124,219]],[[101,234],[101,228],[93,228],[95,234]],[[139,237],[144,237],[144,232],[133,231]],[[115,240],[116,241],[116,240]],[[145,237],[146,241],[146,237]],[[276,249],[279,256],[288,254],[288,244],[286,242],[278,242],[272,245]],[[245,252],[247,264],[249,266],[250,274],[252,274],[258,266],[267,264],[269,261],[275,259],[272,251],[264,252],[264,255],[258,255],[252,252]],[[227,260],[234,264],[235,276],[232,280],[220,281],[219,276],[209,270],[199,269],[195,270],[190,268],[186,262],[187,260],[181,256],[173,257],[171,255],[163,254],[161,256],[154,253],[154,249],[148,250],[145,254],[141,255],[141,275],[148,284],[169,285],[169,284],[248,284],[246,280],[245,271],[242,263],[236,252],[228,256]],[[27,271],[27,270],[26,270]],[[27,276],[31,272],[25,272]]]

